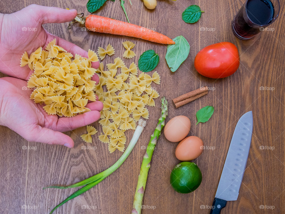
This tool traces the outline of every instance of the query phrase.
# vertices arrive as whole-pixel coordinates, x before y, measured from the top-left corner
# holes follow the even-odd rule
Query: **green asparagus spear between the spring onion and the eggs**
[[[143,196],[145,192],[145,185],[148,179],[148,170],[151,167],[151,157],[156,146],[157,139],[159,138],[162,128],[164,127],[165,118],[167,116],[167,100],[165,97],[161,99],[162,111],[159,118],[158,124],[151,135],[151,139],[148,143],[148,148],[146,149],[145,155],[143,156],[142,166],[140,167],[140,174],[137,181],[137,189],[134,194],[134,204],[132,209],[132,214],[140,214],[143,205]]]

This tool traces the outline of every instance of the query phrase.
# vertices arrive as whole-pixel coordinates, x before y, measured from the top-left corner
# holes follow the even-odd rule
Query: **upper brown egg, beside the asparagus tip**
[[[191,127],[188,117],[179,115],[173,117],[164,127],[164,136],[171,142],[178,142],[185,138]]]

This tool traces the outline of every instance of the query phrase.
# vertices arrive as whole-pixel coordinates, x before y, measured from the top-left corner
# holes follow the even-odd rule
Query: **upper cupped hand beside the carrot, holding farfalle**
[[[56,38],[56,45],[63,47],[73,55],[76,53],[88,57],[88,52],[69,41],[47,32],[42,24],[69,22],[75,18],[75,9],[29,5],[12,14],[0,14],[0,71],[8,76],[28,80],[33,71],[28,66],[20,67],[20,58],[26,51],[28,55],[38,47],[46,45]],[[92,63],[93,68],[99,62]],[[98,75],[92,80],[98,82]]]

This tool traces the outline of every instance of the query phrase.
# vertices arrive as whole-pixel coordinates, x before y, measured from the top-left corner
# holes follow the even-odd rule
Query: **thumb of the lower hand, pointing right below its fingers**
[[[64,145],[68,148],[72,148],[74,146],[74,142],[69,136],[61,132],[43,128],[39,125],[29,133],[27,140],[47,144]]]

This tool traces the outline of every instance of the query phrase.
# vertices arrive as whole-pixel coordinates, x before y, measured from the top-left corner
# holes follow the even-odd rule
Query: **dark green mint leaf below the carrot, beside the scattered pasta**
[[[159,63],[159,55],[154,50],[147,50],[140,55],[138,67],[143,72],[152,71]]]

